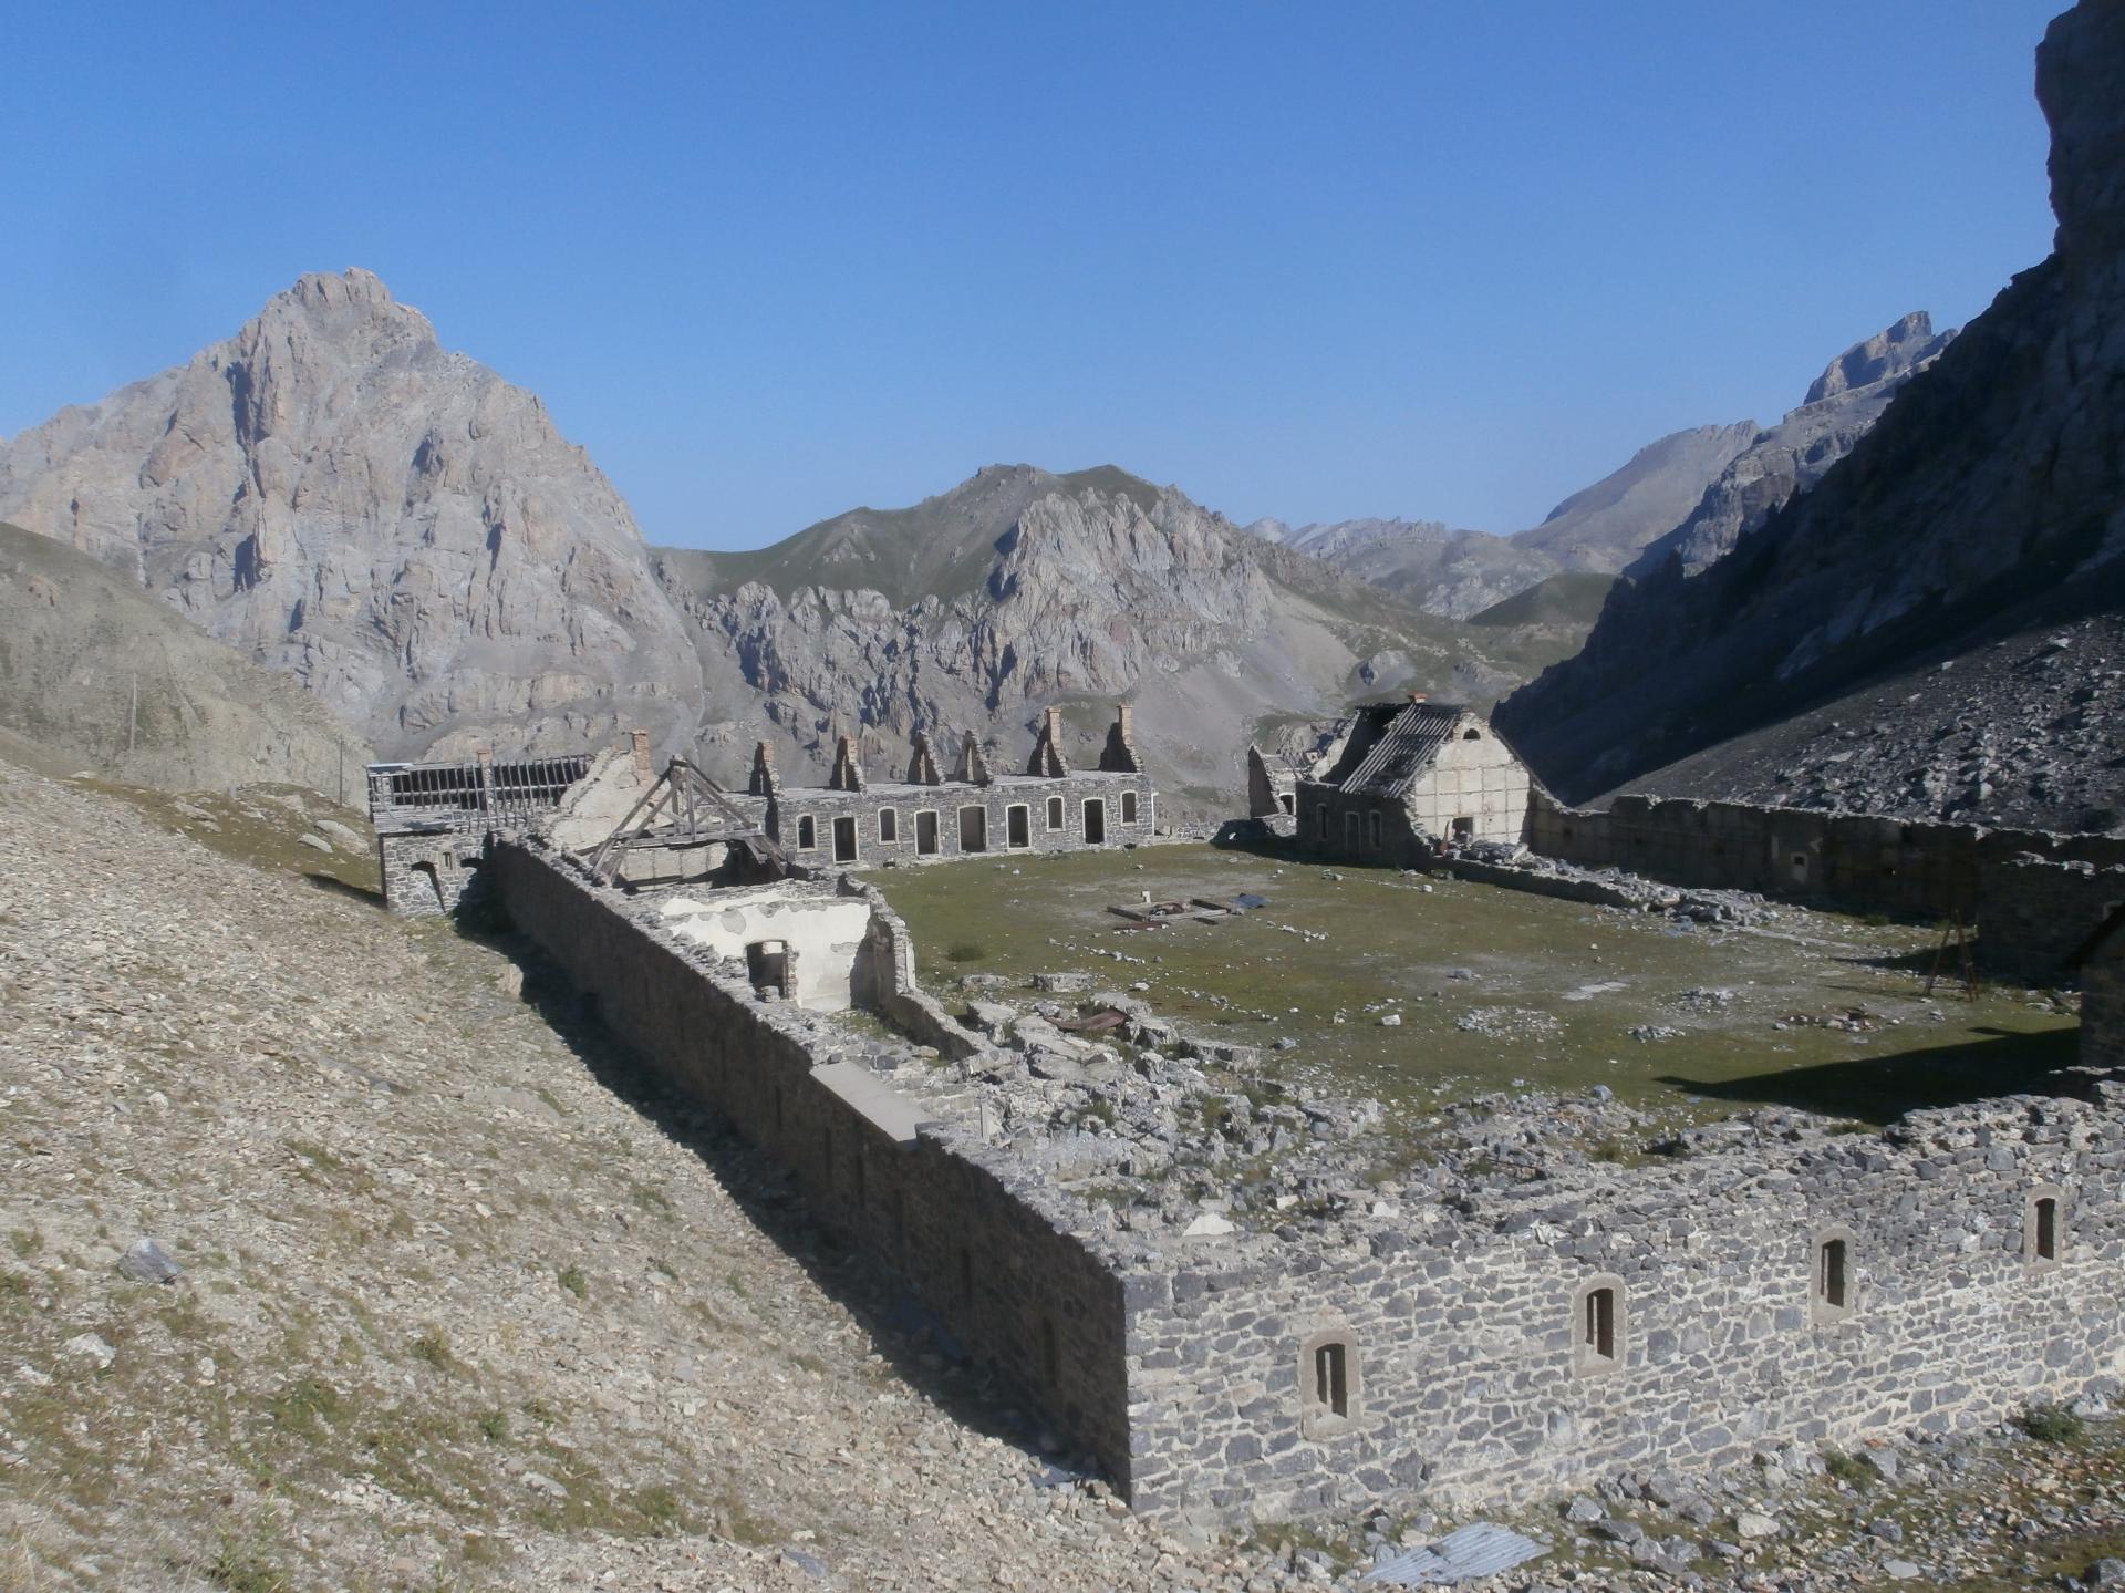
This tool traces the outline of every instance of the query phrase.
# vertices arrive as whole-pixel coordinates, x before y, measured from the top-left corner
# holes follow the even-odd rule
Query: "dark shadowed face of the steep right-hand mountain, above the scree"
[[[2125,6],[2080,4],[2051,26],[2038,100],[2053,130],[2053,255],[1815,489],[1711,568],[1670,559],[1619,587],[1585,651],[1500,706],[1551,785],[1592,795],[1912,664],[2112,608],[2125,553]],[[1908,715],[1953,738],[1953,702],[1921,698]],[[2093,715],[2097,747],[2116,744],[2125,725],[2106,700],[2076,708]],[[2010,723],[2012,708],[1968,698],[1957,712]]]

